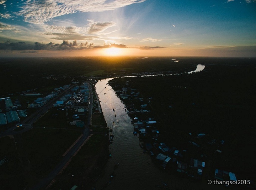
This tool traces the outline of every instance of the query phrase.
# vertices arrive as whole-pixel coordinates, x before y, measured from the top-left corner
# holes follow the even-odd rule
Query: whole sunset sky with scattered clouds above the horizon
[[[256,0],[0,0],[0,57],[256,57]]]

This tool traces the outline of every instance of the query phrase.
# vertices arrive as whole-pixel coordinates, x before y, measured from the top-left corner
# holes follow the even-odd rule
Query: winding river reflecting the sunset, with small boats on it
[[[197,65],[197,69],[191,72],[201,71],[204,67],[205,65]],[[186,179],[168,175],[152,163],[149,154],[143,153],[138,136],[133,135],[133,125],[125,111],[125,105],[108,85],[108,81],[112,79],[99,80],[95,85],[107,126],[112,128],[114,135],[113,143],[109,145],[112,157],[105,166],[105,175],[98,179],[96,189],[101,189],[110,179],[111,183],[106,189],[159,189],[156,185],[162,186],[162,181],[170,189],[186,189],[182,188],[188,186]],[[116,163],[119,166],[114,169]],[[113,178],[110,178],[111,175]]]

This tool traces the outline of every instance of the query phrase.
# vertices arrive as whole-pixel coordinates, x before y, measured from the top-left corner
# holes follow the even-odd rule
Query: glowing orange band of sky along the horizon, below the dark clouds
[[[0,57],[86,57],[86,56],[198,56],[198,57],[256,57],[255,46],[245,47],[212,47],[203,49],[177,48],[99,48],[90,50],[62,51],[0,51]]]

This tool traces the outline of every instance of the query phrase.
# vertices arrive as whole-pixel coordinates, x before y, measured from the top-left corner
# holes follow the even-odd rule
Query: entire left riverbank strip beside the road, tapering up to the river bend
[[[94,84],[93,84],[94,85]],[[52,184],[47,189],[94,188],[97,179],[104,173],[104,166],[109,159],[108,128],[100,107],[97,93],[92,87],[92,117],[90,138],[81,145]]]

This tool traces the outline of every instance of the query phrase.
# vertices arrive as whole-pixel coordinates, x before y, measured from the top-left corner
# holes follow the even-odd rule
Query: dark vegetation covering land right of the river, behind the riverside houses
[[[198,159],[206,154],[208,161],[213,161],[212,169],[234,172],[239,179],[255,180],[256,150],[252,146],[256,144],[255,62],[205,58],[198,63],[206,65],[204,71],[164,77],[118,78],[110,84],[115,90],[130,87],[140,92],[144,102],[123,101],[138,109],[142,104],[149,105],[150,117],[159,121],[159,141],[169,147],[185,149]],[[145,119],[142,114],[138,117]],[[196,138],[198,133],[207,136]],[[211,140],[217,143],[208,144]],[[221,140],[224,146],[219,145]],[[199,144],[200,148],[193,147],[190,141]],[[222,153],[214,154],[217,149]]]

